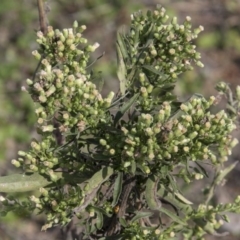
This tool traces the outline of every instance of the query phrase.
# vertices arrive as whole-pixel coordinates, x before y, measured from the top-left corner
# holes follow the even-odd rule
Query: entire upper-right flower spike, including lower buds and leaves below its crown
[[[131,59],[130,63],[126,61],[130,76],[127,87],[135,93],[140,89],[143,99],[139,106],[143,104],[143,110],[169,101],[173,83],[179,74],[192,69],[191,62],[203,67],[201,55],[193,44],[203,27],[192,30],[190,17],[182,25],[176,17],[171,22],[168,18],[161,6],[146,15],[137,12],[131,16],[130,32],[125,36],[126,55]],[[135,66],[141,69],[140,75],[138,71],[133,74]],[[149,97],[156,91],[158,98]]]

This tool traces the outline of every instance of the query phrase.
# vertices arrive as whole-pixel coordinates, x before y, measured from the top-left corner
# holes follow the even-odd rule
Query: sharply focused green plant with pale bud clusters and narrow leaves
[[[130,29],[117,36],[120,91],[106,98],[89,62],[98,43],[88,44],[85,26],[74,22],[73,28],[49,26],[45,35],[37,33],[40,47],[33,55],[40,68],[35,79],[27,79],[27,91],[42,139],[33,140],[28,152],[19,151],[12,163],[24,174],[1,177],[0,191],[38,195],[25,201],[1,197],[3,215],[38,210],[47,216],[43,230],[76,216],[85,239],[222,235],[216,230],[227,221],[225,212],[239,212],[240,199],[215,206],[210,200],[236,165],[221,169],[238,143],[230,134],[240,90],[233,96],[220,83],[217,89],[229,103],[216,114],[210,112],[218,102],[213,96],[178,101],[173,92],[178,76],[192,70],[191,63],[203,67],[193,44],[203,27],[192,30],[190,17],[182,25],[168,18],[161,6],[131,16]],[[208,177],[205,163],[215,169],[215,178],[195,207],[179,182]]]

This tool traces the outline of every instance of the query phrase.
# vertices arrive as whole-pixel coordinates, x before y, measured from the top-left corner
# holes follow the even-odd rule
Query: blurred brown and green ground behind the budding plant
[[[49,23],[54,28],[69,28],[77,20],[87,26],[85,37],[91,43],[100,44],[93,59],[105,53],[95,69],[102,71],[106,94],[118,86],[116,31],[129,24],[131,13],[152,9],[156,4],[165,7],[170,16],[177,16],[179,22],[191,16],[194,27],[205,28],[196,41],[205,67],[196,67],[180,77],[176,88],[179,96],[195,92],[210,96],[216,93],[215,84],[222,80],[232,88],[240,84],[240,0],[48,0],[47,8]],[[0,21],[0,175],[3,176],[17,171],[11,166],[11,160],[17,157],[18,150],[28,149],[36,135],[33,103],[21,91],[37,66],[31,55],[37,48],[35,33],[39,30],[36,1],[1,0]],[[239,131],[234,135],[238,137]],[[239,160],[239,146],[230,160]],[[217,191],[217,202],[232,201],[240,195],[239,174],[240,167],[237,167],[228,176],[225,186]],[[194,199],[193,195],[196,198],[198,191],[198,185],[191,189],[190,200]],[[240,239],[240,217],[237,214],[229,217],[232,222],[225,224],[223,230],[231,235],[222,239]],[[0,240],[73,240],[67,231],[59,228],[40,232],[43,223],[43,216],[27,212],[8,214],[0,218]]]

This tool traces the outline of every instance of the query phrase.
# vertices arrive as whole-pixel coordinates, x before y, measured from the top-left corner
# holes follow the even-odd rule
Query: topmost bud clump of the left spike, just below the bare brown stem
[[[37,59],[46,59],[52,66],[57,64],[68,65],[73,73],[86,73],[86,66],[90,53],[95,51],[98,44],[86,45],[87,39],[82,37],[82,32],[86,26],[78,27],[75,21],[73,28],[53,29],[48,27],[46,35],[41,31],[37,33],[37,42],[41,46],[39,51],[33,51]],[[85,46],[79,49],[78,46]]]

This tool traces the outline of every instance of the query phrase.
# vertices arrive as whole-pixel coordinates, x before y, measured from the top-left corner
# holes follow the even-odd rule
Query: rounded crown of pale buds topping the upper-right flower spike
[[[141,64],[154,65],[164,73],[171,73],[175,78],[179,73],[191,69],[190,61],[194,61],[200,67],[203,64],[199,61],[200,53],[196,51],[196,46],[192,41],[203,31],[199,26],[192,31],[191,18],[186,17],[183,25],[177,23],[174,17],[168,23],[169,16],[166,10],[158,6],[153,12],[147,15],[138,12],[132,15],[131,31],[129,34],[130,43],[139,35],[140,43],[137,47],[144,47],[139,61]],[[146,45],[146,39],[151,34],[152,39]],[[132,53],[137,53],[136,48],[130,49]]]

